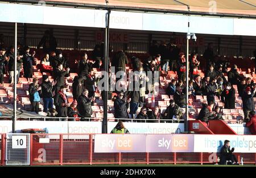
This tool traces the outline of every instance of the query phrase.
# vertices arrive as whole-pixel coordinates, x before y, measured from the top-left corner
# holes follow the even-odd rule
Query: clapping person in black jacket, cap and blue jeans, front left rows
[[[44,102],[44,112],[47,113],[48,109],[53,107],[53,85],[55,85],[56,82],[49,81],[48,75],[43,74],[43,82],[41,84],[42,86],[42,97],[43,97],[43,102]]]

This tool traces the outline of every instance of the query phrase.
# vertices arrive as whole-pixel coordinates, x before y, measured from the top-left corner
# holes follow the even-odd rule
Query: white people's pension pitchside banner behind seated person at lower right
[[[256,152],[255,135],[194,135],[194,152],[220,152],[225,140],[230,140],[234,152]]]

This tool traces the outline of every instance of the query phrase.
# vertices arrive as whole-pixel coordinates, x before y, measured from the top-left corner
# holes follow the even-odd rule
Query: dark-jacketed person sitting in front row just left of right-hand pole
[[[163,119],[179,120],[181,119],[181,117],[182,117],[182,111],[180,110],[180,107],[175,104],[174,100],[170,100],[170,105],[166,108],[166,111],[164,111]]]

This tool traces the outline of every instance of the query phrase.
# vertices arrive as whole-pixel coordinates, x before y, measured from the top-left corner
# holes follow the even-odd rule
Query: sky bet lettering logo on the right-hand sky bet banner
[[[171,148],[172,151],[187,150],[188,138],[187,136],[174,136],[172,139],[162,138],[158,140],[158,147],[164,147],[166,150]]]

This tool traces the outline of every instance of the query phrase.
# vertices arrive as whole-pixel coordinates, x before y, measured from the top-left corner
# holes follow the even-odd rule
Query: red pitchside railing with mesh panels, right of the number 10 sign
[[[39,137],[49,143],[39,143]],[[96,153],[94,134],[31,134],[31,165],[50,164],[214,164],[216,153],[143,152]],[[255,153],[236,153],[238,161],[255,164]]]

